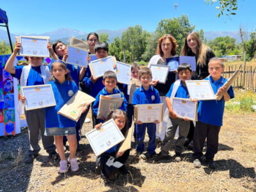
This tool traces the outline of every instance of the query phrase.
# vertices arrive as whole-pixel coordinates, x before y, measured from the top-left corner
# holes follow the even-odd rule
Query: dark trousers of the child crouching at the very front
[[[103,153],[96,159],[97,166],[104,175],[111,176],[118,172],[125,162],[127,161],[130,154],[130,150],[126,150],[124,154],[120,157],[115,158],[115,153]]]

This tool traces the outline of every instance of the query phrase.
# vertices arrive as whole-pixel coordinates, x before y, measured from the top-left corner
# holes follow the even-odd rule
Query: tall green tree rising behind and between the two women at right
[[[171,34],[177,40],[177,54],[184,44],[184,39],[188,33],[191,33],[195,26],[191,26],[187,15],[181,17],[173,17],[173,19],[163,19],[156,28],[157,37],[161,37],[166,33]]]

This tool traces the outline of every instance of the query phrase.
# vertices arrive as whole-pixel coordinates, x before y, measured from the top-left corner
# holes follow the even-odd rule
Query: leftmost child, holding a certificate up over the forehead
[[[49,48],[49,46],[48,46]],[[20,86],[29,86],[37,84],[46,84],[51,77],[50,70],[47,66],[43,65],[42,61],[44,58],[29,56],[29,65],[20,65],[13,67],[15,58],[18,51],[21,49],[21,44],[17,43],[15,49],[6,62],[4,70],[10,72],[13,77],[20,80]],[[26,57],[27,58],[27,57]],[[25,100],[25,97],[22,97]],[[44,149],[49,154],[49,157],[54,157],[58,159],[58,154],[56,154],[56,147],[54,145],[54,138],[44,136],[45,129],[45,109],[33,109],[25,111],[26,120],[28,123],[28,133],[29,133],[29,151],[28,157],[25,159],[25,163],[33,163],[33,160],[38,156],[40,147],[38,145],[39,141],[39,131],[41,131],[42,143]]]

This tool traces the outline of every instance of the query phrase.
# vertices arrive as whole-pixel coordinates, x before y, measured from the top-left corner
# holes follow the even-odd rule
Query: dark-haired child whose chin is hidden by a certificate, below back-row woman
[[[106,58],[108,56],[108,45],[104,44],[103,42],[99,42],[94,47],[95,54],[97,56],[97,59]],[[95,76],[92,76],[92,73],[90,72],[90,68],[86,68],[86,72],[84,75],[83,83],[86,87],[91,89],[90,95],[92,97],[96,97],[97,94],[104,88],[104,84],[102,84],[102,77],[96,78]],[[93,104],[92,104],[93,106]],[[92,124],[93,127],[96,125],[96,118],[93,116],[93,110],[92,110]]]

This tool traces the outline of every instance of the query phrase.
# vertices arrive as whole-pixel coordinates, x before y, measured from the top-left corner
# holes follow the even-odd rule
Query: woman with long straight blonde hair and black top
[[[208,63],[211,58],[215,57],[215,54],[210,47],[203,44],[198,33],[193,31],[186,36],[180,55],[195,56],[196,73],[192,79],[204,79],[209,76]]]

